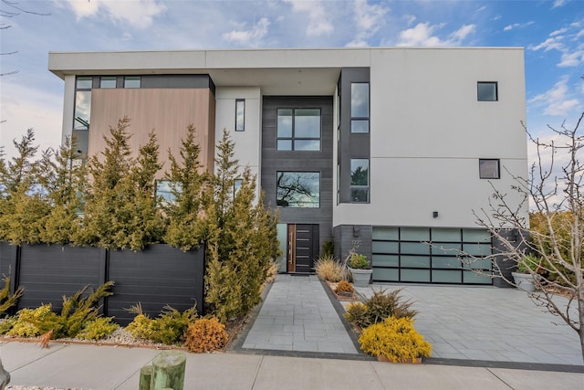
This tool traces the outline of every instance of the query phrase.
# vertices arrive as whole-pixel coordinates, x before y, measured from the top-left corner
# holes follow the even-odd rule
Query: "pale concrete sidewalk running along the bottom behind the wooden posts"
[[[138,388],[139,371],[159,351],[143,348],[51,343],[4,343],[0,356],[10,385],[61,389]],[[10,385],[8,390],[10,390]],[[582,389],[584,374],[387,364],[374,361],[187,353],[184,389]]]

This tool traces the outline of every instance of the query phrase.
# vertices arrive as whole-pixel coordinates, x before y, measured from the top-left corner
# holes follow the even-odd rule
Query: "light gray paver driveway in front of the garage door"
[[[401,295],[414,301],[412,307],[419,311],[415,328],[433,344],[433,358],[584,364],[577,333],[545,308],[537,307],[524,291],[393,284],[356,290],[369,297],[373,289],[400,288]]]

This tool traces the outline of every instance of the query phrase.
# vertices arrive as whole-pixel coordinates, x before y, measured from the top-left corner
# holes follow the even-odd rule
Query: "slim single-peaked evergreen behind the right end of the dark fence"
[[[162,202],[169,220],[164,241],[183,250],[198,247],[206,229],[204,189],[209,175],[199,162],[200,150],[194,141],[194,126],[190,124],[186,138],[181,141],[182,161],[179,162],[169,151],[171,169],[164,177],[170,184],[173,198]]]

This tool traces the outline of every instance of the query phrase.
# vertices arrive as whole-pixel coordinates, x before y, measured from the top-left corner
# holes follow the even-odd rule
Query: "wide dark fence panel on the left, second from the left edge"
[[[26,245],[20,248],[18,284],[25,289],[18,310],[51,303],[63,307],[71,296],[89,285],[88,292],[103,282],[99,278],[101,249],[58,245]]]

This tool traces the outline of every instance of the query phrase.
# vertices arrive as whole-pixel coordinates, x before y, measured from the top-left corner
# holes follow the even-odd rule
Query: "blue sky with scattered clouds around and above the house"
[[[12,140],[31,127],[41,149],[61,140],[63,81],[47,70],[49,51],[525,47],[530,132],[547,136],[547,124],[575,123],[584,110],[581,0],[11,1],[50,15],[0,4],[0,144],[7,157]]]

